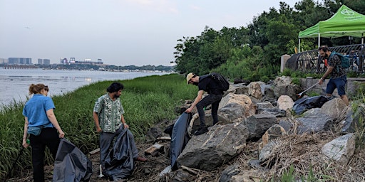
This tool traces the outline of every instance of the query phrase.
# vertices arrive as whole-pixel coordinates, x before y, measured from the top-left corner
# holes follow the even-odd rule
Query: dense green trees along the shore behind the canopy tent
[[[281,1],[279,9],[263,11],[246,27],[216,31],[205,26],[199,36],[178,40],[175,70],[182,74],[215,71],[230,79],[271,80],[279,73],[281,56],[296,53],[299,31],[327,20],[341,5],[365,14],[364,0],[302,0],[294,7]],[[321,44],[329,46],[360,42],[361,38],[321,38]],[[305,51],[317,46],[317,38],[305,38],[300,48]]]

